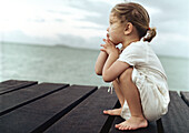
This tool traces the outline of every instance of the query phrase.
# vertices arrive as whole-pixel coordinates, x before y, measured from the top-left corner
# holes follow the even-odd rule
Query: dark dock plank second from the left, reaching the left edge
[[[68,84],[41,83],[0,95],[0,115],[63,89]]]

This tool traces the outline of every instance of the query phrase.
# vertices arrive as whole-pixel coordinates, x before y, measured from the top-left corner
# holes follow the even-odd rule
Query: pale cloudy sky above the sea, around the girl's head
[[[143,6],[158,54],[189,58],[188,0],[128,0]],[[100,49],[111,8],[125,0],[0,0],[0,41]]]

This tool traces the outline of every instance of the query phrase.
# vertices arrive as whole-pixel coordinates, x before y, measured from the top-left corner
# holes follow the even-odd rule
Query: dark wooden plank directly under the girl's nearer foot
[[[116,116],[109,133],[158,133],[156,122],[148,122],[148,127],[138,129],[138,130],[133,130],[133,131],[120,131],[115,127],[116,124],[119,124],[123,121],[125,120],[121,116]]]

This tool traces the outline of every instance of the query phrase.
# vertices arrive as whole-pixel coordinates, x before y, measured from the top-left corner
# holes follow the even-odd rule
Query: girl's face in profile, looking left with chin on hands
[[[109,27],[107,28],[109,39],[117,45],[122,42],[123,39],[123,30],[125,27],[121,21],[115,16],[115,13],[110,13],[109,17]]]

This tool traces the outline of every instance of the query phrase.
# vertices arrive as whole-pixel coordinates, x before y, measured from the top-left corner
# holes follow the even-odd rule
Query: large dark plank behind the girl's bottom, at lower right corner
[[[177,92],[170,92],[168,113],[161,117],[165,133],[188,133],[189,109]]]

